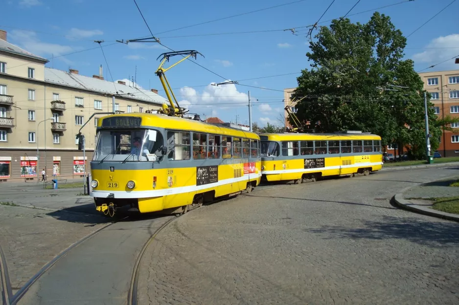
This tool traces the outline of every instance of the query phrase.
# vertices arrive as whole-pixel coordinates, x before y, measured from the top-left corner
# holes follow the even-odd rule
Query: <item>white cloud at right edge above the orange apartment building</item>
[[[432,48],[432,49],[428,49]],[[448,36],[440,36],[433,39],[427,46],[424,52],[416,53],[412,56],[416,63],[422,62],[427,64],[436,64],[441,61],[446,61],[449,58],[457,55],[459,48],[459,34]],[[454,69],[457,65],[454,59],[436,66],[436,69]]]

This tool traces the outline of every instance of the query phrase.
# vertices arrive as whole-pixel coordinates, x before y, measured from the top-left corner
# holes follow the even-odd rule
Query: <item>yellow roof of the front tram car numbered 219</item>
[[[191,119],[169,117],[161,114],[152,113],[121,113],[104,116],[99,119],[97,123],[97,128],[101,128],[104,119],[111,117],[141,118],[141,127],[160,127],[172,130],[198,131],[203,133],[221,134],[259,140],[258,135],[250,131],[227,127],[223,125],[195,121]]]

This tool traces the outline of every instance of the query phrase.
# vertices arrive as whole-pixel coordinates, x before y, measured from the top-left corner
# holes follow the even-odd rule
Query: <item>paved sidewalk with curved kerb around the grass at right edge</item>
[[[394,203],[413,212],[459,222],[458,214],[434,210],[430,208],[432,201],[427,200],[428,198],[459,196],[459,187],[449,186],[458,180],[458,178],[459,176],[414,186],[402,193],[396,194],[393,197]]]

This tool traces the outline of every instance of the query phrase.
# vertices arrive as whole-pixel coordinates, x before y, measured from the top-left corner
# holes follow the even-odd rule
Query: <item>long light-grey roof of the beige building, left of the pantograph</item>
[[[143,102],[151,102],[155,104],[168,103],[168,101],[162,96],[148,90],[140,90],[139,88],[123,85],[117,82],[113,83],[111,81],[99,80],[89,76],[70,73],[58,69],[45,67],[45,81],[62,86],[110,95],[119,94],[127,99],[134,99]]]

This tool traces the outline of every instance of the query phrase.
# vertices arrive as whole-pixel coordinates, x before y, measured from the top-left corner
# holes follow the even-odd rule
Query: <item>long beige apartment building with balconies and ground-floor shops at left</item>
[[[92,159],[97,120],[112,112],[156,110],[167,100],[155,89],[87,77],[78,70],[45,67],[45,58],[7,42],[0,30],[0,181],[47,176],[78,177]],[[86,138],[86,161],[75,136]],[[87,169],[88,171],[88,169]],[[38,177],[37,177],[38,176]]]

